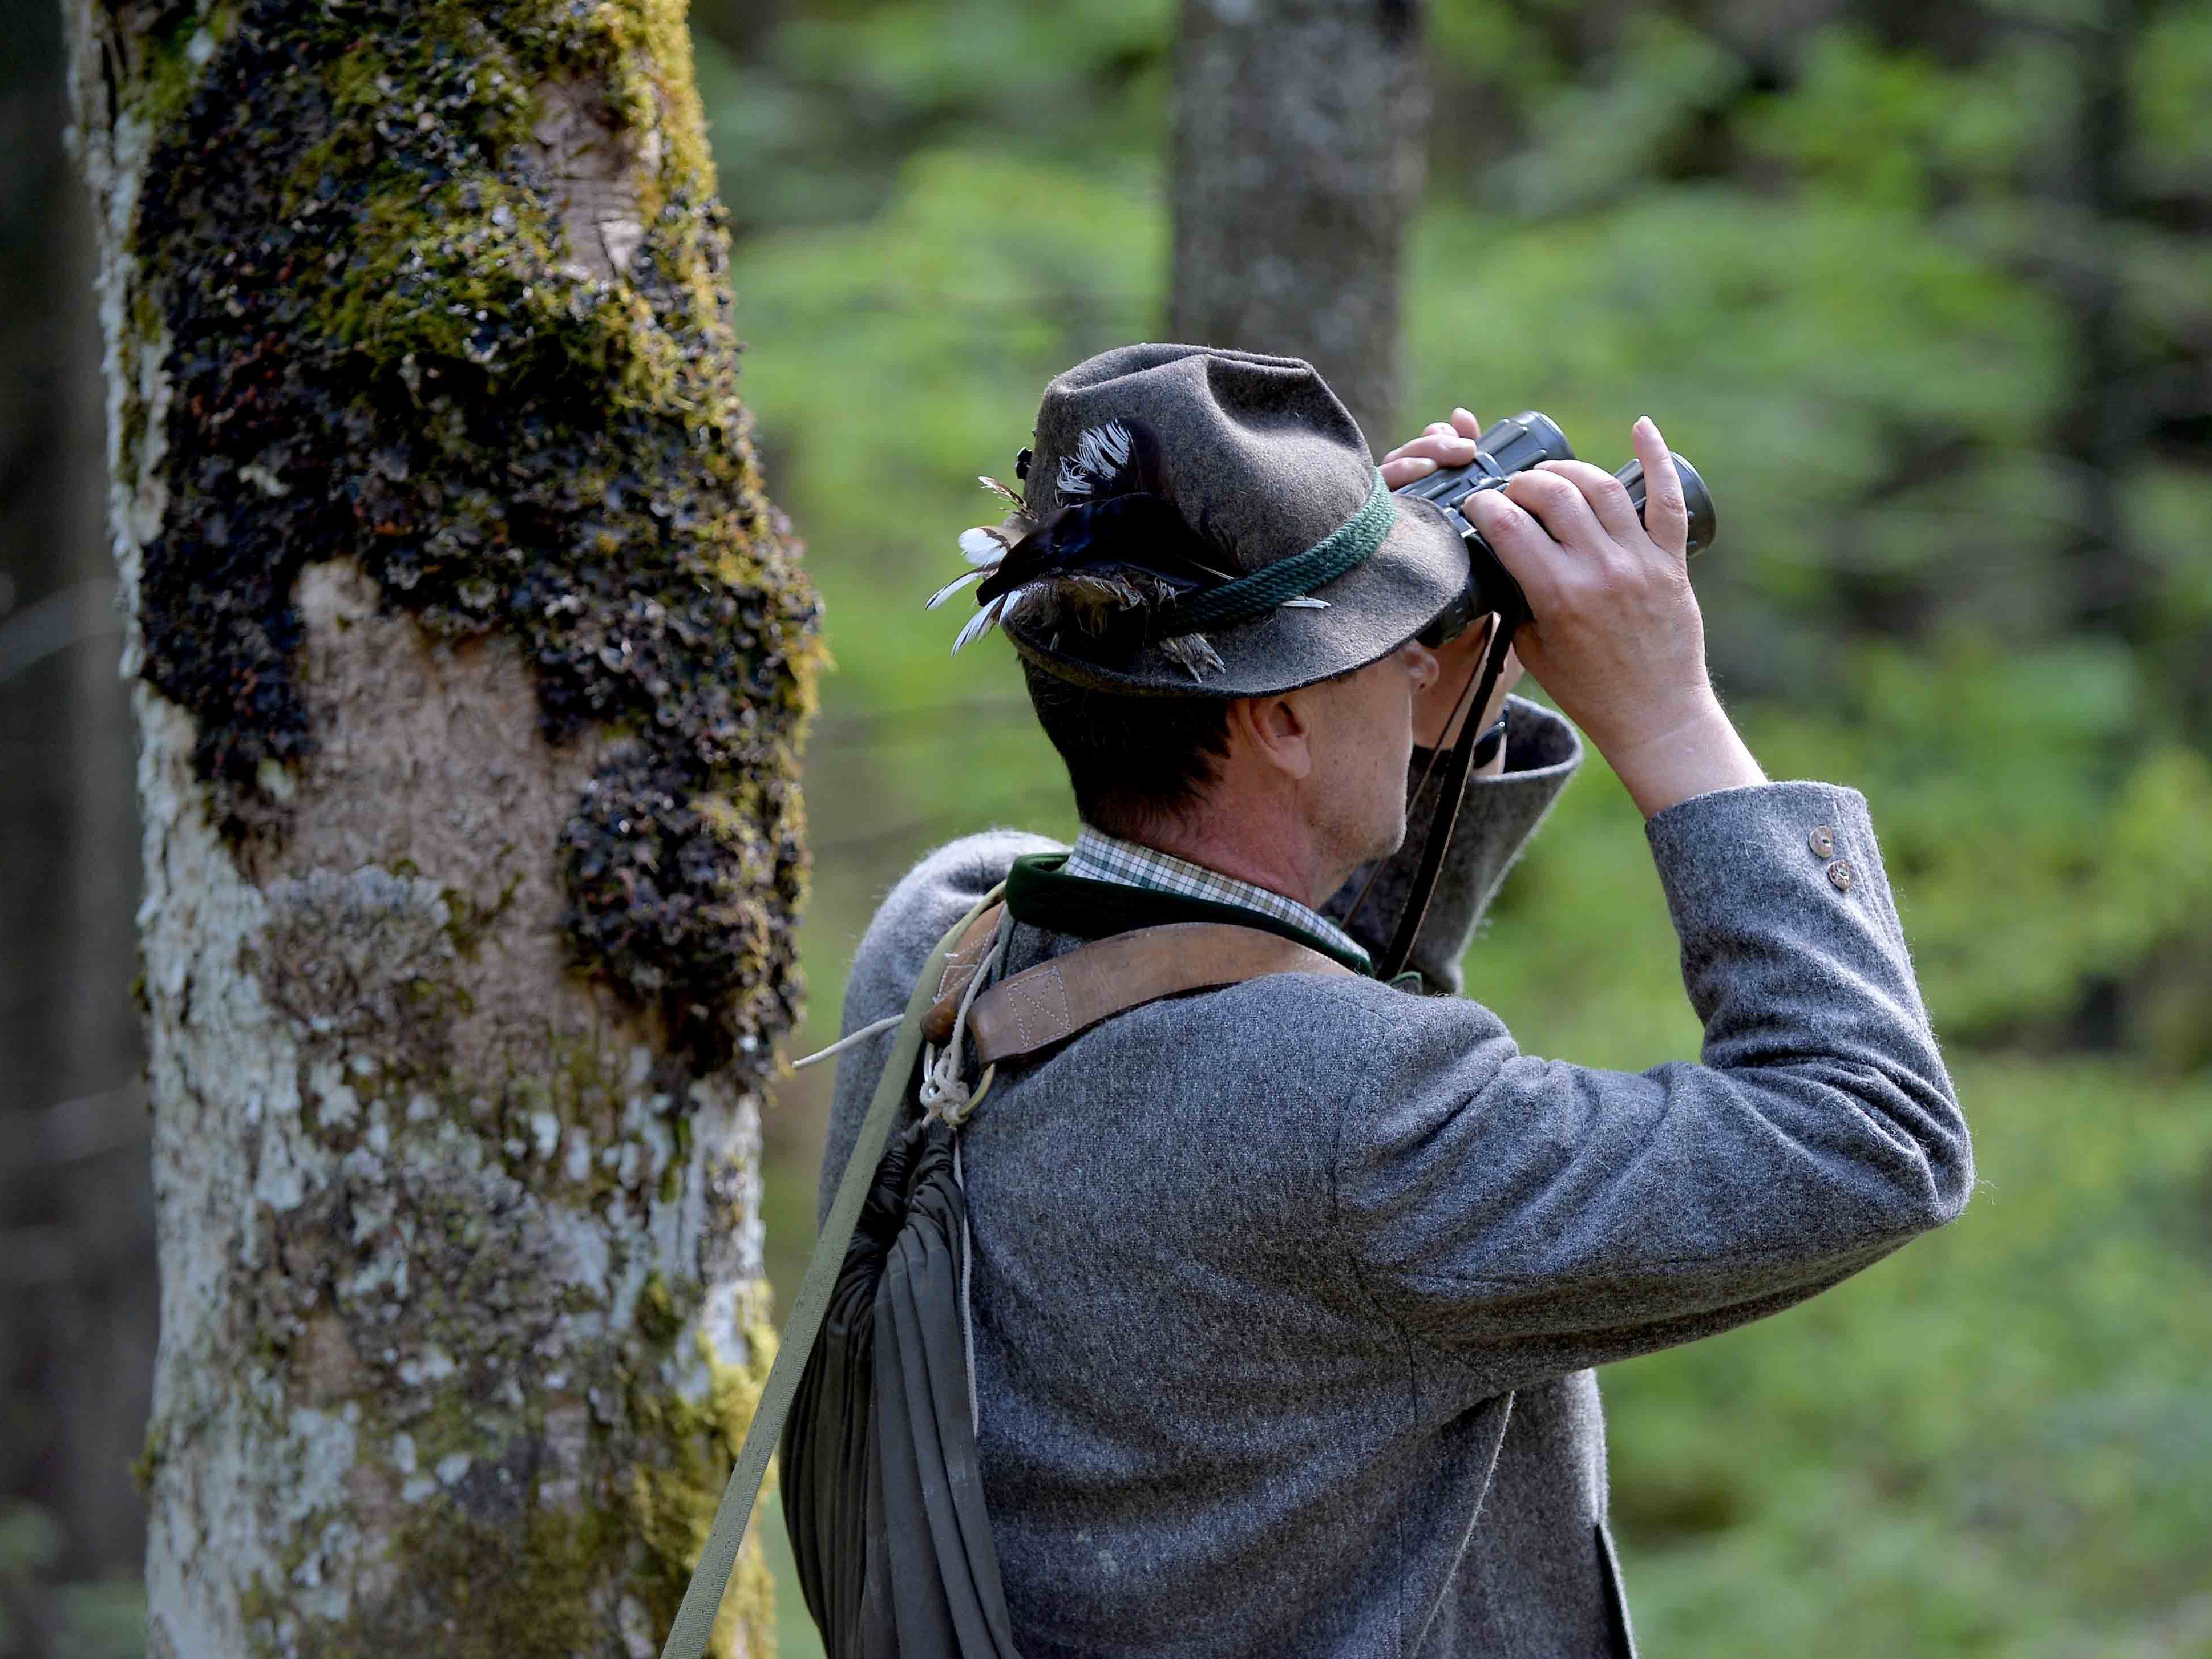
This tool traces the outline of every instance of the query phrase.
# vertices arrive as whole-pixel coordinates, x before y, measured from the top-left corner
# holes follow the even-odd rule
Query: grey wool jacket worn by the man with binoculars
[[[1429,991],[1458,991],[1577,763],[1515,701],[1511,770],[1469,785],[1422,933]],[[1285,973],[1000,1073],[962,1164],[1026,1659],[1630,1652],[1590,1367],[1790,1307],[1973,1181],[1865,801],[1725,790],[1648,838],[1701,1064],[1540,1060],[1480,1002]],[[847,1031],[1053,849],[991,832],[925,858],[860,942]],[[1077,942],[1018,927],[1006,969]],[[889,1042],[838,1068],[825,1206]]]

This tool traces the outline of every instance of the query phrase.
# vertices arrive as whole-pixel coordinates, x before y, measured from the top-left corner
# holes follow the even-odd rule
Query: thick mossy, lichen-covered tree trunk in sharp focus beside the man
[[[770,1358],[816,604],[681,0],[66,0],[155,1659],[653,1655]],[[757,1555],[717,1635],[763,1644]]]

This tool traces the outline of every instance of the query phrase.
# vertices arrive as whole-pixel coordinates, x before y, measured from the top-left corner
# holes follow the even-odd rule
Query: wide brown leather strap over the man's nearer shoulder
[[[1146,1002],[1267,973],[1349,975],[1352,969],[1296,940],[1234,922],[1137,927],[1000,980],[969,1009],[969,1037],[975,1057],[995,1066],[1035,1055]]]

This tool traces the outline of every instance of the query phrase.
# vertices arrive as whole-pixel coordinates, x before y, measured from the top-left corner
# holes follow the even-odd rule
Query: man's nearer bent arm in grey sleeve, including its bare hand
[[[1396,1002],[1338,1146],[1365,1281],[1486,1389],[1690,1340],[1951,1219],[1973,1155],[1854,790],[1767,783],[1705,675],[1681,478],[1544,462],[1469,500],[1528,595],[1528,672],[1613,763],[1681,938],[1703,1064],[1522,1055]]]

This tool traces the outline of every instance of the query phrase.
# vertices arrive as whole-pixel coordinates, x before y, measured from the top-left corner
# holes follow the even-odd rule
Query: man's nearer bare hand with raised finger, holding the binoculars
[[[1469,495],[1462,511],[1528,595],[1533,619],[1515,637],[1528,670],[1650,818],[1765,774],[1705,675],[1705,619],[1683,551],[1690,513],[1648,418],[1635,425],[1635,449],[1641,524],[1619,480],[1584,460],[1546,460]]]

